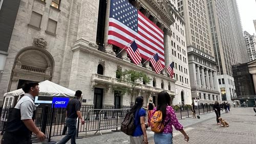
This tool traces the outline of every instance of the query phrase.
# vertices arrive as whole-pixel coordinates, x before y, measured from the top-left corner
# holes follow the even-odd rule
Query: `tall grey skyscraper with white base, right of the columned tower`
[[[232,7],[229,1],[207,0],[207,8],[222,100],[230,101],[236,95],[232,65],[236,64],[236,61],[242,62],[241,57],[235,58],[240,55],[239,45],[234,45],[237,43],[234,39],[239,36],[232,33],[232,25],[236,25],[232,21],[236,18],[230,14]]]

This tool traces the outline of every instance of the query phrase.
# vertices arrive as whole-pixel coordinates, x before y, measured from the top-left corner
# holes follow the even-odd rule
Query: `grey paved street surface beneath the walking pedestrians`
[[[223,113],[221,117],[230,125],[228,128],[219,127],[216,123],[215,113],[201,114],[198,118],[179,119],[189,136],[185,142],[179,131],[174,131],[174,143],[255,143],[256,141],[256,116],[251,107],[231,108],[229,113]],[[88,137],[77,139],[77,143],[130,143],[129,136],[122,132],[111,130],[88,133]],[[153,132],[147,130],[148,142],[154,143]],[[79,133],[84,136],[85,133]],[[59,141],[63,136],[52,137],[52,141]]]

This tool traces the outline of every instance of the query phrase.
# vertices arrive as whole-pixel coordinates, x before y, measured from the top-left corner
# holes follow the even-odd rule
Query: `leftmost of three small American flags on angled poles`
[[[125,51],[130,56],[134,64],[138,65],[141,62],[140,52],[135,40],[132,42],[132,44],[129,47],[127,47]]]

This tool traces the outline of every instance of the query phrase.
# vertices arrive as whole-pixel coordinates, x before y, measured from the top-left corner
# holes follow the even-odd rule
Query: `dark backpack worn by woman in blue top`
[[[123,122],[121,123],[121,131],[127,135],[133,135],[135,131],[135,115],[132,112],[126,113]]]

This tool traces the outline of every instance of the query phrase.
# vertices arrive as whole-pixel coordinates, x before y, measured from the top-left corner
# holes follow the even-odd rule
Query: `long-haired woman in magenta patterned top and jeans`
[[[188,135],[183,130],[183,126],[178,122],[178,119],[175,115],[174,109],[170,106],[172,100],[170,95],[166,91],[161,91],[158,93],[157,98],[157,107],[153,110],[153,115],[156,111],[162,112],[162,119],[164,124],[164,129],[160,133],[154,133],[154,142],[156,144],[162,143],[173,143],[173,127],[176,130],[180,131],[184,135],[186,141],[189,140]]]

